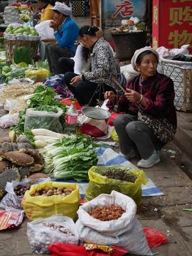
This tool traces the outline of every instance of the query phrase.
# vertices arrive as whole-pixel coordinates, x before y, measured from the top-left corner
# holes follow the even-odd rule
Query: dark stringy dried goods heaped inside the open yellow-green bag
[[[108,169],[108,171],[101,171],[100,174],[102,176],[106,176],[107,178],[115,178],[121,181],[129,181],[134,183],[137,179],[137,176],[132,174],[132,171],[126,171],[122,169]]]

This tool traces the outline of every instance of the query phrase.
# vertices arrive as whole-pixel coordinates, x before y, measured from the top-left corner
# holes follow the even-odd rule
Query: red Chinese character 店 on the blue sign
[[[132,11],[132,9],[134,9],[134,6],[131,1],[124,0],[121,4],[116,4],[116,7],[117,11],[112,14],[112,18],[116,17],[119,13],[122,17],[132,16],[132,14],[134,13],[134,11]]]

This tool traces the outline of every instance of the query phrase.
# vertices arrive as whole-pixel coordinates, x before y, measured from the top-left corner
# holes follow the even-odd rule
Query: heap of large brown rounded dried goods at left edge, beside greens
[[[15,142],[12,142],[15,141]],[[32,149],[25,135],[16,140],[11,137],[0,139],[0,196],[6,193],[7,182],[20,181],[36,171],[43,171],[43,156]]]

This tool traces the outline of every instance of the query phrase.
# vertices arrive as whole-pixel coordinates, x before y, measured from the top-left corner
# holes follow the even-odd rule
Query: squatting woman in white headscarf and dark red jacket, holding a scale
[[[156,71],[158,63],[159,54],[153,48],[144,47],[136,50],[132,58],[132,66],[140,74],[127,82],[124,96],[117,99],[114,92],[105,92],[105,99],[110,100],[107,106],[113,109],[119,101],[119,112],[125,112],[117,115],[113,120],[119,137],[120,154],[126,159],[131,159],[138,150],[142,160],[137,166],[142,168],[149,168],[159,163],[159,150],[166,143],[156,137],[149,125],[138,120],[139,109],[154,118],[165,117],[176,132],[174,82]],[[173,134],[170,140],[173,139]]]

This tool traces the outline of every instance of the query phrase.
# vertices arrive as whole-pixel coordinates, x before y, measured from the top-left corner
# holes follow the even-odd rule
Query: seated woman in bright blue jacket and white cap
[[[78,38],[79,27],[75,21],[70,18],[71,9],[63,3],[55,2],[53,8],[54,20],[50,21],[49,26],[54,30],[54,36],[57,43],[46,44],[46,58],[50,73],[58,75],[62,73],[58,65],[60,57],[71,58],[75,55],[75,41]]]

